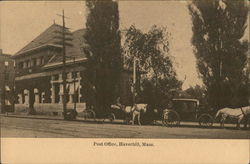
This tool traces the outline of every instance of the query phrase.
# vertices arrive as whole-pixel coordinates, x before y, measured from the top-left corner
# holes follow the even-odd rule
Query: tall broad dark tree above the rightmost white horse
[[[241,106],[246,100],[243,69],[247,41],[242,41],[248,16],[246,1],[193,0],[188,5],[192,22],[197,68],[216,109]]]

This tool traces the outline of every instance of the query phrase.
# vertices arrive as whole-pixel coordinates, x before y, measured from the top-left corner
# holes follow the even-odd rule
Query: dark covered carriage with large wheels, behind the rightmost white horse
[[[198,122],[201,127],[213,126],[213,110],[199,104],[197,99],[176,98],[172,100],[172,109],[163,112],[163,125],[178,126],[181,121]]]

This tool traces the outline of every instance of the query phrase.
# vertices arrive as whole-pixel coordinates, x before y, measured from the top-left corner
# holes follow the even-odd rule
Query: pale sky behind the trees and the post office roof
[[[191,44],[192,22],[186,1],[118,1],[120,28],[132,24],[148,31],[154,24],[167,27],[171,33],[170,53],[178,79],[184,80],[183,89],[202,85],[196,70]],[[0,2],[0,48],[15,54],[54,22],[61,24],[64,9],[66,26],[72,31],[84,28],[86,7],[84,1],[5,1]]]

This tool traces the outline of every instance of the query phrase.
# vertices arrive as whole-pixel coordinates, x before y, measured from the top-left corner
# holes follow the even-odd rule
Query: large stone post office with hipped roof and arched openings
[[[13,56],[16,63],[17,111],[34,108],[37,112],[62,112],[64,92],[60,31],[62,26],[51,25]],[[73,109],[76,103],[77,111],[84,110],[87,101],[94,103],[92,97],[95,94],[84,73],[86,53],[89,53],[85,48],[84,32],[84,29],[67,30],[67,40],[70,40],[66,46],[67,108]],[[120,86],[125,104],[131,101],[130,78],[131,71],[124,70]]]

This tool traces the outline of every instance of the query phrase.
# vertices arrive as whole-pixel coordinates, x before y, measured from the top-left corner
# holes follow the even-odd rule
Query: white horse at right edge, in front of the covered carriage
[[[219,116],[221,116],[220,119],[220,125],[224,128],[224,122],[225,120],[230,118],[236,118],[237,119],[237,125],[236,128],[240,129],[240,123],[243,118],[247,119],[247,116],[250,114],[250,106],[240,107],[240,108],[223,108],[218,110],[216,113],[215,119]]]

